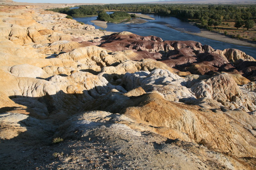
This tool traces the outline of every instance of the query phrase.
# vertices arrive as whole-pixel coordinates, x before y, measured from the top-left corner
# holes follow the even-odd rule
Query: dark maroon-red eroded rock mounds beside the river
[[[99,46],[107,50],[130,49],[136,52],[138,55],[133,60],[150,58],[161,61],[171,68],[193,74],[204,75],[212,71],[225,71],[230,74],[251,76],[251,79],[255,77],[254,68],[246,70],[255,66],[255,63],[251,62],[254,59],[235,49],[214,50],[209,45],[203,46],[196,41],[163,41],[156,36],[143,37],[129,32],[111,34],[106,41],[100,43]],[[233,57],[234,60],[237,59],[235,65],[228,61],[233,53],[236,55]]]

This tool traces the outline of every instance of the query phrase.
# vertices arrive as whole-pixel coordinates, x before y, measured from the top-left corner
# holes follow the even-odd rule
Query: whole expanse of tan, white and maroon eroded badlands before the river
[[[20,153],[25,148],[38,157],[41,147],[51,160],[45,144],[61,137],[54,149],[64,155],[29,166],[56,169],[75,160],[71,169],[255,169],[251,56],[195,41],[102,32],[65,16],[0,9],[3,168],[30,160],[29,149]],[[10,160],[17,150],[24,155]]]

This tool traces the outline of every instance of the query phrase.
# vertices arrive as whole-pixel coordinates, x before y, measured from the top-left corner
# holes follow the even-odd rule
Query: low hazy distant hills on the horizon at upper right
[[[256,0],[169,0],[154,2],[138,2],[136,4],[256,4]]]

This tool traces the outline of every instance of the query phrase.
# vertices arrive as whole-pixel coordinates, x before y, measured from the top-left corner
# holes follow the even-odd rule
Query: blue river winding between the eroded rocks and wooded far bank
[[[111,13],[111,12],[108,12],[108,13]],[[247,55],[250,55],[253,58],[256,58],[256,48],[234,45],[230,43],[215,41],[208,38],[203,38],[196,35],[188,34],[186,32],[199,33],[200,29],[187,22],[183,22],[180,19],[175,17],[166,17],[166,16],[159,16],[154,14],[147,14],[147,15],[155,18],[155,20],[146,19],[148,22],[143,24],[125,24],[124,22],[119,24],[107,23],[108,27],[105,28],[105,30],[111,31],[111,32],[128,31],[128,32],[135,33],[142,36],[154,35],[162,38],[163,40],[178,40],[178,41],[192,40],[192,41],[200,42],[203,45],[204,44],[210,45],[212,48],[220,49],[220,50],[223,50],[226,48],[236,48],[241,51],[244,51]],[[96,26],[94,23],[90,22],[91,20],[97,19],[97,16],[74,18],[74,19],[76,19],[77,21],[81,21],[85,24],[93,25],[97,29],[101,28],[99,26]],[[177,29],[180,31],[178,31]]]

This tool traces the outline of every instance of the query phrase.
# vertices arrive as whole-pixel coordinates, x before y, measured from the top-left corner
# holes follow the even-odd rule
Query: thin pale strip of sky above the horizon
[[[102,3],[102,4],[120,4],[120,3],[133,3],[133,2],[150,2],[158,0],[13,0],[15,2],[28,2],[28,3]]]

